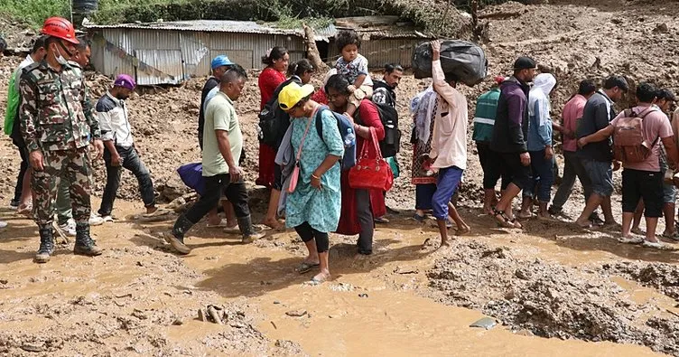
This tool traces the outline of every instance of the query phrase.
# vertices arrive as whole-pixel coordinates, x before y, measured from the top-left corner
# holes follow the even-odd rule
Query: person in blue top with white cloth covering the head
[[[528,154],[531,157],[533,186],[524,190],[519,218],[531,218],[533,202],[537,200],[538,218],[549,219],[547,211],[554,183],[554,152],[552,148],[552,118],[549,95],[556,86],[556,79],[551,73],[540,73],[535,76],[533,89],[528,94]]]

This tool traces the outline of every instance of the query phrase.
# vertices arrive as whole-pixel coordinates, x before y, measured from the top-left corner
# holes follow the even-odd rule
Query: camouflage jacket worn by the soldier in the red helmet
[[[60,72],[45,61],[23,71],[19,120],[29,152],[81,148],[101,136],[82,70],[69,63]]]

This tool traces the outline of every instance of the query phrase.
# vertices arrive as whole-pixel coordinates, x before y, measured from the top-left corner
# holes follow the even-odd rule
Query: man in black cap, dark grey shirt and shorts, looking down
[[[610,120],[616,117],[613,103],[622,99],[627,91],[627,80],[620,76],[609,77],[604,82],[603,89],[597,90],[590,99],[587,99],[582,111],[580,125],[576,130],[578,139],[609,127]],[[613,193],[613,171],[620,168],[620,163],[613,160],[612,141],[607,138],[579,146],[577,155],[581,159],[585,172],[590,176],[591,194],[575,223],[581,228],[591,228],[596,225],[596,222],[590,220],[591,213],[601,206],[604,226],[618,226],[610,208],[610,195]],[[613,164],[612,168],[611,163]]]

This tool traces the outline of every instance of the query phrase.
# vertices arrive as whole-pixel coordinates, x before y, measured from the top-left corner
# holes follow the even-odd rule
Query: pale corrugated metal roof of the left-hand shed
[[[149,29],[149,30],[179,30],[179,31],[202,31],[209,33],[270,33],[302,35],[301,30],[279,29],[253,21],[227,21],[227,20],[191,20],[172,21],[163,23],[117,23],[117,24],[94,24],[87,23],[88,29]]]

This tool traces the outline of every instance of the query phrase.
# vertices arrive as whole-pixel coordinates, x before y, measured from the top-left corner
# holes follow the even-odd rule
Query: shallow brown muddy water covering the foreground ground
[[[121,207],[118,212],[121,216],[141,209],[139,204],[128,202],[116,205]],[[3,214],[7,216],[8,213]],[[475,220],[470,217],[470,221]],[[224,238],[219,230],[208,230],[199,224],[187,240],[194,250],[188,257],[178,259],[163,250],[161,240],[153,238],[167,230],[170,223],[120,221],[96,227],[93,231],[98,244],[107,249],[104,256],[74,257],[68,250],[61,250],[48,265],[37,266],[31,262],[37,245],[32,223],[11,221],[12,227],[0,233],[3,253],[0,278],[8,280],[0,289],[3,302],[0,329],[37,334],[46,326],[60,329],[66,326],[78,331],[87,325],[85,322],[100,319],[108,331],[120,327],[113,322],[107,325],[107,317],[97,316],[122,314],[117,316],[120,320],[125,315],[140,314],[136,311],[139,310],[148,315],[142,320],[145,330],[141,331],[150,337],[135,335],[131,332],[134,330],[104,334],[108,335],[102,337],[108,352],[260,355],[275,354],[274,342],[289,340],[312,355],[526,356],[563,355],[564,351],[568,355],[588,356],[654,355],[648,348],[636,345],[544,339],[528,333],[515,334],[502,325],[489,331],[470,328],[469,324],[483,315],[422,296],[428,284],[424,273],[435,258],[445,253],[421,249],[423,240],[435,239],[434,230],[407,222],[378,229],[376,254],[369,258],[354,255],[351,239],[333,236],[334,279],[320,287],[302,284],[311,274],[300,276],[293,272],[303,255],[302,243],[294,241],[293,232],[277,233],[273,239],[243,246],[237,237]],[[530,235],[498,236],[491,229],[479,229],[475,234],[478,235],[463,240],[511,245],[516,254],[537,255],[563,264],[598,263],[631,254],[619,251],[613,254],[605,249],[584,254],[559,244],[559,240]],[[654,289],[621,278],[615,282],[639,304],[673,306],[672,299]],[[265,340],[229,333],[230,330],[225,330],[228,327],[195,319],[198,308],[228,302],[247,306],[246,314],[254,316],[254,326],[265,334]],[[60,317],[45,318],[33,310],[26,314],[23,311],[26,304],[61,306],[57,313]],[[79,305],[84,310],[80,311]],[[302,317],[286,315],[304,310],[307,314]],[[181,319],[180,325],[172,324],[175,315]],[[85,316],[85,322],[79,316]],[[149,321],[153,324],[144,325]],[[225,334],[229,341],[242,339],[242,345],[219,344],[225,340]],[[78,345],[80,348],[75,351],[102,348],[87,341]],[[65,350],[61,352],[68,354]]]

